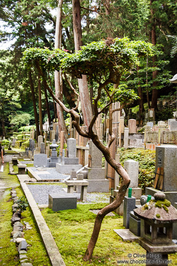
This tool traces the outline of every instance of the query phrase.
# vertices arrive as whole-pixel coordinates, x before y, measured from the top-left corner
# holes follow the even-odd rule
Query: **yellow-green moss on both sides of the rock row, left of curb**
[[[17,184],[17,176],[8,175],[8,172],[9,164],[5,164],[5,171],[4,173],[1,173],[0,179],[2,179],[3,174],[4,182],[5,179],[8,178],[12,182],[12,187],[20,185]],[[16,191],[19,197],[24,195],[20,187],[16,187]],[[14,203],[10,195],[10,188],[6,189],[3,199],[0,200],[0,265],[20,265],[17,246],[15,243],[10,242],[12,239],[11,232],[13,231],[13,227],[11,225],[13,204]],[[42,243],[40,234],[37,230],[35,219],[29,207],[22,213],[21,222],[24,223],[24,221],[29,222],[33,227],[31,230],[24,230],[25,239],[27,240],[27,243],[30,244],[30,246],[28,246],[27,253],[29,262],[31,262],[33,266],[50,266],[51,263],[49,261],[46,249]]]

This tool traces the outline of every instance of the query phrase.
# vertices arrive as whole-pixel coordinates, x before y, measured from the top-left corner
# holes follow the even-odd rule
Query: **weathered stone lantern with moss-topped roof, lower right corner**
[[[141,218],[138,242],[146,249],[146,265],[157,265],[157,260],[160,265],[167,265],[168,254],[177,251],[177,245],[172,242],[172,223],[177,222],[177,210],[165,199],[164,193],[157,192],[154,198],[134,209],[134,214]]]

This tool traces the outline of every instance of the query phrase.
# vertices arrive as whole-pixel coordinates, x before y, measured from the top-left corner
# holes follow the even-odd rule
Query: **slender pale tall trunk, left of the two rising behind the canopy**
[[[57,21],[55,28],[55,49],[61,49],[62,44],[62,5],[63,0],[58,1],[58,12],[57,12]],[[55,71],[55,94],[58,99],[63,101],[63,89],[62,89],[62,73],[61,71]],[[57,117],[59,123],[59,131],[64,131],[65,140],[68,139],[68,130],[65,125],[65,120],[63,116],[63,110],[61,106],[56,103],[57,107]]]

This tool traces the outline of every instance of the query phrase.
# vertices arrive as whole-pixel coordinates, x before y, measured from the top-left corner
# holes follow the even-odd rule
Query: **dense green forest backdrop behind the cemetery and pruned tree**
[[[171,118],[169,116],[174,110],[166,106],[158,111],[157,100],[175,97],[176,87],[168,79],[176,73],[177,68],[176,1],[59,0],[58,3],[53,0],[1,0],[0,3],[0,42],[7,44],[6,50],[0,50],[0,136],[5,136],[11,125],[19,129],[36,123],[38,130],[40,116],[41,122],[47,118],[50,122],[59,117],[56,103],[40,80],[38,72],[30,72],[22,60],[26,48],[56,48],[57,6],[61,12],[61,42],[58,48],[68,53],[76,50],[73,28],[78,21],[73,21],[73,18],[78,12],[82,27],[80,46],[116,37],[152,43],[154,56],[141,59],[140,66],[121,79],[122,89],[133,89],[139,96],[126,105],[124,111],[127,115],[128,108],[138,106],[139,115],[143,118],[144,107],[155,108],[159,120]],[[75,95],[67,79],[60,75],[60,88],[56,90],[55,74],[48,74],[50,87],[56,95],[58,93],[57,96],[69,108],[75,107]],[[77,79],[72,77],[70,82],[78,91]],[[91,102],[95,97],[94,86],[88,80]],[[105,95],[102,95],[104,101]],[[81,112],[80,106],[78,111]]]

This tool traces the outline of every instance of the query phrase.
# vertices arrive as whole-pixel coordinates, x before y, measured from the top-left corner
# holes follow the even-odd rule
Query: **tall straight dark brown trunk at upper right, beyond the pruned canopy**
[[[156,32],[155,32],[155,27],[156,27],[156,23],[155,23],[155,19],[153,18],[154,12],[152,9],[152,2],[153,0],[150,0],[150,13],[151,13],[151,17],[152,17],[152,29],[151,29],[151,41],[153,45],[156,45]],[[152,56],[152,66],[155,67],[156,66],[156,56]],[[152,79],[156,79],[157,77],[157,70],[152,72]],[[154,81],[152,83],[152,87],[157,86],[158,82]],[[151,108],[155,108],[157,109],[157,98],[158,98],[158,91],[157,89],[152,89],[152,102],[151,102]]]

